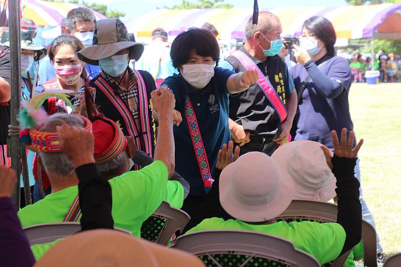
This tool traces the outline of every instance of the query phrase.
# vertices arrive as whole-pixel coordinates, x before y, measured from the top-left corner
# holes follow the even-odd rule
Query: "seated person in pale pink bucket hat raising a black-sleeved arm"
[[[274,218],[294,197],[293,180],[266,154],[249,152],[228,165],[220,176],[220,202],[232,219],[205,219],[188,232],[206,229],[265,232],[291,240],[295,247],[313,255],[321,264],[335,259],[360,241],[362,231],[359,181],[353,170],[363,140],[352,149],[354,134],[350,132],[348,141],[346,135],[343,129],[339,142],[336,132],[332,132],[333,157],[328,148],[322,147],[327,165],[337,179],[337,222],[275,222]],[[219,200],[212,201],[218,204]]]

